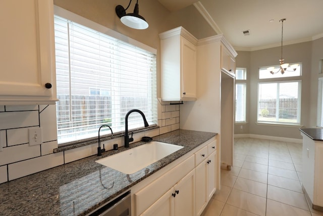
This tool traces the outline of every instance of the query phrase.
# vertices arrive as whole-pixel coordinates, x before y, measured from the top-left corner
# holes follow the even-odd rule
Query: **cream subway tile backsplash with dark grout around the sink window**
[[[159,128],[134,134],[134,141],[179,129],[180,105],[158,100]],[[28,129],[42,128],[42,144],[29,146]],[[102,142],[110,150],[123,139]],[[97,152],[97,144],[53,153],[58,147],[55,105],[0,106],[0,184],[79,160]]]

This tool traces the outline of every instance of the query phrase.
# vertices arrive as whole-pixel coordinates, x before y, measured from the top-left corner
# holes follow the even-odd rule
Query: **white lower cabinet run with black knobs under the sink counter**
[[[212,138],[178,164],[174,161],[171,168],[132,188],[134,216],[200,215],[216,191],[216,149]]]

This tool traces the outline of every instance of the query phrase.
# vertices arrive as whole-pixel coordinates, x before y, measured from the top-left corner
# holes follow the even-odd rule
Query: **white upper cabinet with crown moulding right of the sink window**
[[[183,27],[159,34],[161,99],[196,100],[197,39]]]

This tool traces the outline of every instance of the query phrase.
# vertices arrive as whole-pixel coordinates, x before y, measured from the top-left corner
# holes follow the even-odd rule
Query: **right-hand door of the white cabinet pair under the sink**
[[[193,216],[195,214],[195,175],[190,171],[174,186],[174,215]]]

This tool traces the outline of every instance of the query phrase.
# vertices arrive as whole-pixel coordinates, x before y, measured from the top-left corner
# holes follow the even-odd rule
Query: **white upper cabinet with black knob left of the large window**
[[[53,1],[0,1],[0,28],[0,105],[55,104]]]

